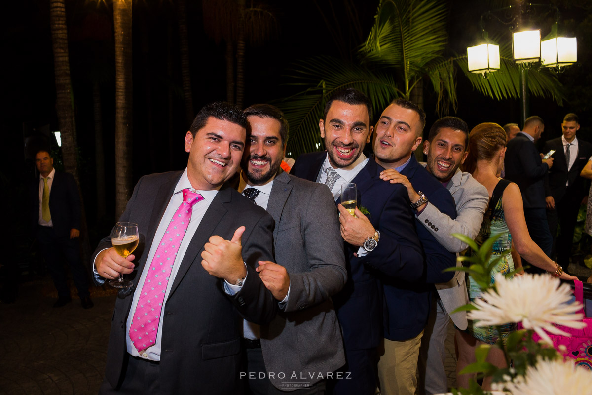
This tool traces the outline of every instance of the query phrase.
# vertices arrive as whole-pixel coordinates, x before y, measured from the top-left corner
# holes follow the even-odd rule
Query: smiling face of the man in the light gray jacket
[[[427,169],[440,182],[451,179],[458,166],[465,161],[468,155],[465,140],[466,133],[463,131],[443,127],[432,142],[423,143],[423,152],[427,153]]]

